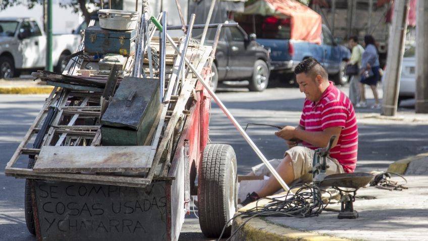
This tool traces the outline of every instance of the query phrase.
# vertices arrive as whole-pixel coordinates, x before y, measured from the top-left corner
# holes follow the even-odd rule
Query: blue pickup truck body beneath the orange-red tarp
[[[345,74],[346,62],[350,59],[349,49],[336,43],[330,30],[323,24],[321,44],[303,40],[291,40],[286,33],[287,26],[276,26],[276,34],[265,31],[257,42],[271,50],[272,72],[293,73],[300,61],[313,57],[326,68],[335,84],[345,84],[348,76]],[[282,30],[282,31],[281,31]]]

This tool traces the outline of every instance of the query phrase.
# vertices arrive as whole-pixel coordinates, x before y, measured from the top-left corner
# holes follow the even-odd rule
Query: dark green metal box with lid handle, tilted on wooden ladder
[[[103,146],[142,146],[161,108],[159,80],[125,77],[101,118]]]

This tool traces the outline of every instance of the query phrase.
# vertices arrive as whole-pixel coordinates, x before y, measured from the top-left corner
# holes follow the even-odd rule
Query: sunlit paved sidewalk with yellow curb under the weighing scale
[[[428,153],[397,161],[388,171],[403,174],[408,189],[358,189],[357,219],[338,219],[340,203],[329,204],[318,217],[253,218],[233,240],[428,240]],[[232,232],[245,220],[237,218]]]

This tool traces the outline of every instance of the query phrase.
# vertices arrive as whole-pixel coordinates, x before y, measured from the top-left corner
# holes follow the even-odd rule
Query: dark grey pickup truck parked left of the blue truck
[[[207,34],[207,45],[214,34],[215,29]],[[240,26],[222,28],[212,73],[213,89],[222,81],[248,80],[250,91],[263,91],[269,82],[270,53],[257,43],[255,34],[248,35]]]

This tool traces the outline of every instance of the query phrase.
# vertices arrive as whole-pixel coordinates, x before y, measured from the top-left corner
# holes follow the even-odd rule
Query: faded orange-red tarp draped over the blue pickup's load
[[[291,39],[321,43],[321,16],[297,1],[258,0],[246,5],[244,13],[291,18]]]

